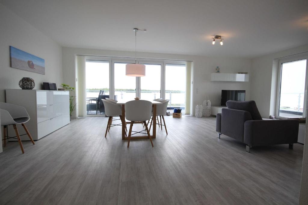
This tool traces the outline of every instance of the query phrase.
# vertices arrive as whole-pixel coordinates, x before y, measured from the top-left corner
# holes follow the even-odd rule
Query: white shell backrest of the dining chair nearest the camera
[[[134,100],[125,103],[125,117],[130,121],[147,121],[152,116],[152,102]]]

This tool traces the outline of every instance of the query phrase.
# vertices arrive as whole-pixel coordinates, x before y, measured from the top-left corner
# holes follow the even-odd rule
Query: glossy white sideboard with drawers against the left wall
[[[25,107],[30,120],[25,123],[33,140],[54,132],[70,123],[70,103],[68,91],[56,90],[6,90],[6,102]],[[9,136],[15,136],[9,126]],[[19,134],[25,134],[22,126],[17,126]],[[14,139],[12,139],[14,140]],[[21,140],[29,140],[21,136]]]

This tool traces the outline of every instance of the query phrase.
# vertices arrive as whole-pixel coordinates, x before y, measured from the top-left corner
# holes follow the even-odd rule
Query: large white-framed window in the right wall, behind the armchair
[[[307,59],[280,61],[278,118],[306,117]]]

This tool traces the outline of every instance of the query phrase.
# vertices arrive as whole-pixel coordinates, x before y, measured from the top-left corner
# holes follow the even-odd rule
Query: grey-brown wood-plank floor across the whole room
[[[104,137],[106,117],[71,124],[0,154],[0,204],[297,204],[303,145],[252,148],[217,138],[216,118],[166,116],[150,140]],[[141,129],[141,124],[134,129]]]

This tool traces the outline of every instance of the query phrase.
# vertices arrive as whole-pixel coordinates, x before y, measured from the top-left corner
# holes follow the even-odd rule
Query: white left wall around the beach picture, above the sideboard
[[[59,87],[63,76],[61,46],[2,4],[0,19],[0,102],[5,102],[5,89],[20,89],[22,77],[33,78],[34,89],[41,89],[43,82],[54,82]],[[10,45],[45,59],[45,75],[10,68]]]

